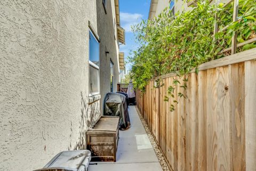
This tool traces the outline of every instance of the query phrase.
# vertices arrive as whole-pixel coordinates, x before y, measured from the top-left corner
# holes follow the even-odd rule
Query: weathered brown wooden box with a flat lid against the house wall
[[[101,116],[86,134],[87,149],[92,152],[92,161],[116,161],[119,117]]]

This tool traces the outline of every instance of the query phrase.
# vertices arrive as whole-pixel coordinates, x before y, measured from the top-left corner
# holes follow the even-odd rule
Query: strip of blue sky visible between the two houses
[[[125,29],[125,45],[120,46],[120,52],[124,52],[125,60],[130,50],[136,49],[135,38],[131,26],[142,19],[148,19],[150,0],[119,0],[121,27]],[[126,70],[131,65],[126,63]]]

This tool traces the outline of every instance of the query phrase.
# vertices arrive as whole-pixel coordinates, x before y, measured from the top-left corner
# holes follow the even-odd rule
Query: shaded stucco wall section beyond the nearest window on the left
[[[101,111],[103,109],[103,100],[106,93],[110,92],[110,59],[114,63],[114,82],[113,91],[117,91],[117,82],[119,78],[118,71],[118,47],[117,37],[115,39],[114,19],[115,9],[114,0],[107,1],[106,11],[103,8],[102,1],[97,1],[97,21],[98,34],[100,37],[100,94]],[[106,54],[106,51],[109,52]]]

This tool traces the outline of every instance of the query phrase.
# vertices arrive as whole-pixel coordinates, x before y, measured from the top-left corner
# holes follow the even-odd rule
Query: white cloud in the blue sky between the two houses
[[[142,16],[142,14],[138,13],[120,12],[121,27],[123,27],[126,32],[132,32],[131,26],[138,24]]]

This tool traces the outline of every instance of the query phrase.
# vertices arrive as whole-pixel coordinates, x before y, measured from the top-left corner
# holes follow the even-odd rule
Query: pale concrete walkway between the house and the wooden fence
[[[129,106],[131,128],[119,131],[116,162],[98,162],[89,171],[163,171],[134,106]]]

